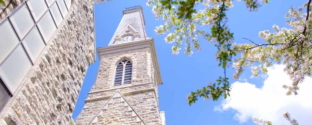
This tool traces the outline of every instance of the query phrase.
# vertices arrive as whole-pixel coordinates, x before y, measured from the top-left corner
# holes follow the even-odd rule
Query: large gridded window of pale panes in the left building
[[[0,23],[0,109],[71,7],[71,0],[26,0]]]

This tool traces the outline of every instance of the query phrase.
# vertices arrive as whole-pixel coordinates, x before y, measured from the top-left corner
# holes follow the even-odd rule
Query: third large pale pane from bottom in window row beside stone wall
[[[47,12],[40,22],[38,23],[38,28],[42,33],[42,37],[46,42],[49,41],[54,31],[56,30],[56,26],[52,20],[50,12]]]

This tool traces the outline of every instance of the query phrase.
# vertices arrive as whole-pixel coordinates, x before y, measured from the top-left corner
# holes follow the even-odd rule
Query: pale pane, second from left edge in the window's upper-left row
[[[17,34],[22,38],[26,35],[26,33],[30,30],[30,28],[34,25],[34,21],[27,9],[26,4],[23,4],[17,12],[15,12],[10,20],[15,27]]]

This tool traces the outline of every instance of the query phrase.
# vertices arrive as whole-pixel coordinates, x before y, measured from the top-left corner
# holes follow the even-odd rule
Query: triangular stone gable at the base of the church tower
[[[115,114],[115,115],[111,115]],[[96,114],[88,125],[147,125],[142,117],[135,111],[133,106],[119,92],[115,92],[113,96],[103,105],[103,108]]]

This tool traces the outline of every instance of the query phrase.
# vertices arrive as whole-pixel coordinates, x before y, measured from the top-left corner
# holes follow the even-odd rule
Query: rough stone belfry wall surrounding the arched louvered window
[[[149,48],[142,48],[101,56],[98,75],[90,92],[112,88],[115,66],[122,58],[129,58],[132,61],[132,84],[151,82],[152,77],[149,73],[151,69],[148,68],[148,63],[151,62],[147,60],[150,56],[149,50]]]

